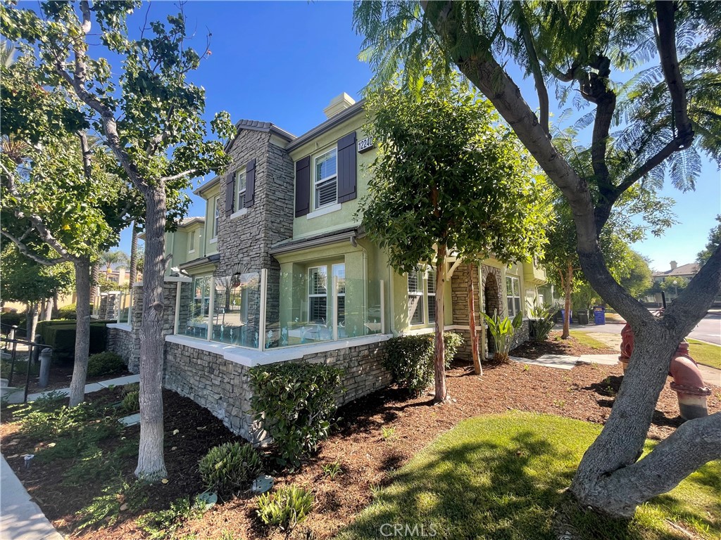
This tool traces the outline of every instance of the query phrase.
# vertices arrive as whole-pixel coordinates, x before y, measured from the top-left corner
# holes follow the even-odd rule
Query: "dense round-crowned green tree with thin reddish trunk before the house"
[[[435,266],[443,291],[446,261],[540,253],[544,216],[536,176],[491,105],[458,79],[428,85],[416,98],[386,86],[368,97],[368,132],[379,145],[362,215],[368,236],[400,272]],[[435,400],[448,400],[443,294],[435,295]]]

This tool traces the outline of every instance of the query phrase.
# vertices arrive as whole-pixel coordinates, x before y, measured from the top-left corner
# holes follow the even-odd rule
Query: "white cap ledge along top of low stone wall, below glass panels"
[[[390,334],[373,334],[372,336],[348,338],[341,341],[324,341],[323,343],[311,343],[295,347],[272,348],[267,351],[259,351],[257,348],[231,346],[225,343],[205,341],[204,339],[189,338],[187,336],[174,336],[172,334],[165,336],[165,341],[218,354],[228,361],[241,364],[242,366],[252,367],[274,364],[275,362],[300,360],[309,354],[337,351],[342,348],[370,345],[371,343],[381,343],[392,337]]]

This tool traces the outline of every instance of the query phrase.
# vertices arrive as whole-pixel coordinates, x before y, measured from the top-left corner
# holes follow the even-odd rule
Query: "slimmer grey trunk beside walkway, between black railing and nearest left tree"
[[[85,399],[85,379],[88,373],[90,349],[90,259],[79,258],[75,266],[75,361],[73,378],[70,382],[70,406],[74,407]]]

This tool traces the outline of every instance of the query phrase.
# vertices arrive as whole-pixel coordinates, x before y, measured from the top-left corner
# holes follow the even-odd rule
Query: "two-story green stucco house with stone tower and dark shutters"
[[[459,356],[469,358],[469,279],[481,333],[481,311],[525,314],[546,283],[531,262],[506,267],[495,259],[469,267],[451,256],[443,291],[435,290],[433,261],[395,272],[356,217],[375,154],[363,132],[363,102],[342,94],[325,113],[325,122],[297,138],[269,122],[238,122],[226,145],[228,171],[195,192],[207,202],[205,220],[185,220],[166,238],[164,384],[252,440],[260,434],[248,415],[249,367],[336,364],[346,372],[339,398],[347,402],[389,383],[384,341],[433,331],[436,294],[446,297],[446,329],[466,337]],[[133,318],[114,325],[110,340],[131,369],[138,293]],[[526,320],[518,340],[527,335]]]

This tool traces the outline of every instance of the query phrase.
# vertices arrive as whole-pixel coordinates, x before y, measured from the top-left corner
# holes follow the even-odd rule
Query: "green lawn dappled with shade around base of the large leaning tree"
[[[592,423],[516,411],[465,420],[399,469],[338,539],[381,538],[392,532],[384,523],[417,526],[415,536],[423,526],[435,539],[554,539],[555,508],[599,431]],[[642,505],[631,521],[577,511],[572,523],[589,540],[689,538],[680,529],[717,539],[719,501],[721,463],[712,462]]]

